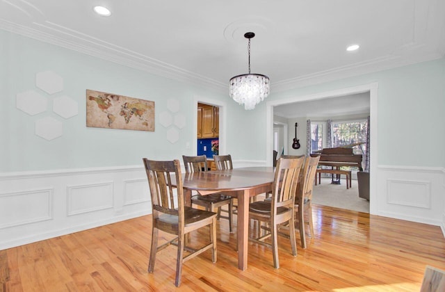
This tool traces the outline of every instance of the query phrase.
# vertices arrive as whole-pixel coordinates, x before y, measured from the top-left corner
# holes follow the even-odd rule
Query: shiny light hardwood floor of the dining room
[[[249,245],[248,270],[237,268],[236,236],[218,225],[211,252],[184,263],[184,291],[419,291],[426,266],[445,269],[439,227],[314,206],[315,236],[298,256],[279,238],[280,266],[270,249]],[[236,221],[235,221],[236,222]],[[172,291],[176,248],[159,252],[147,273],[150,216],[0,251],[0,291]],[[234,225],[236,232],[236,224]],[[208,229],[207,229],[208,230]],[[208,231],[193,234],[207,240]],[[252,226],[252,230],[254,230]]]

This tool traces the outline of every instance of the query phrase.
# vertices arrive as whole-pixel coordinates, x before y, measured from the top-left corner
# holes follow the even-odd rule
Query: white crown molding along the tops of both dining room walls
[[[210,90],[214,90],[222,94],[227,93],[228,91],[227,83],[222,83],[220,81],[210,79],[207,76],[195,74],[180,67],[176,67],[160,60],[150,58],[149,56],[139,54],[135,51],[103,42],[102,40],[92,38],[89,35],[72,31],[63,26],[58,26],[57,24],[53,24],[51,22],[43,22],[39,24],[34,22],[33,24],[41,27],[42,30],[32,29],[28,26],[21,26],[13,22],[8,22],[4,19],[0,19],[0,29],[10,31],[11,33],[17,33],[28,38],[54,44],[73,51],[78,51],[81,54],[86,54],[102,60],[108,60],[119,65],[124,65],[136,70],[147,72],[149,74],[162,76],[183,83],[193,84],[203,88],[209,88]],[[51,33],[44,31],[50,31]],[[417,58],[412,56],[408,58],[403,55],[404,53],[400,52],[398,56],[387,55],[372,60],[366,60],[361,63],[354,63],[352,65],[306,74],[283,81],[271,82],[270,91],[272,92],[271,94],[273,94],[273,92],[282,92],[305,86],[312,86],[319,83],[345,79],[352,76],[369,74],[372,72],[388,70],[394,67],[411,65],[414,63],[444,57],[443,54],[439,53],[430,54],[428,56],[419,56]]]

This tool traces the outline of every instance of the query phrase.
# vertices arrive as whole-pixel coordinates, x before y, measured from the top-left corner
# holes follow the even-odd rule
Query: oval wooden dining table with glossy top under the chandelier
[[[238,268],[248,268],[248,232],[250,197],[272,190],[274,168],[252,167],[233,170],[184,173],[183,187],[186,206],[191,206],[192,191],[200,195],[225,193],[238,198],[236,240],[238,244]]]

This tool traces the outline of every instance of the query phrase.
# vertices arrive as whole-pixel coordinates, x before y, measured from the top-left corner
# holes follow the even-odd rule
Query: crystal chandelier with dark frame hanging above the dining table
[[[252,110],[269,95],[269,77],[262,74],[250,74],[250,39],[254,33],[245,33],[249,40],[249,73],[234,76],[229,81],[229,95],[238,104],[244,104],[245,110]]]

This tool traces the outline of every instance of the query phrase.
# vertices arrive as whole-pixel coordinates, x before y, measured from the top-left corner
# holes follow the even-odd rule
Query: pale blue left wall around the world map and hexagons
[[[62,92],[49,95],[35,86],[35,74],[47,70],[63,78]],[[86,89],[154,101],[155,131],[86,127]],[[16,95],[26,90],[47,98],[47,111],[29,115],[17,109]],[[193,149],[186,146],[192,145],[194,138],[193,97],[227,98],[218,92],[1,30],[0,94],[0,172],[142,165],[142,157],[179,159],[182,154],[193,154]],[[78,115],[65,119],[52,111],[52,101],[61,95],[78,104]],[[176,143],[167,140],[170,127],[159,122],[159,114],[168,111],[169,99],[179,102],[178,113],[186,117],[186,127],[177,129]],[[54,140],[36,136],[35,122],[43,117],[60,121],[63,135]]]

